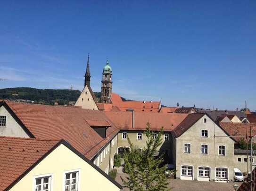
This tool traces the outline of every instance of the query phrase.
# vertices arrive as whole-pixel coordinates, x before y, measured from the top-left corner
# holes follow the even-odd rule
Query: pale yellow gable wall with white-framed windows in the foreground
[[[47,178],[50,191],[65,191],[67,175],[77,191],[120,191],[115,183],[65,145],[59,145],[9,191],[34,191],[37,180],[43,178]]]

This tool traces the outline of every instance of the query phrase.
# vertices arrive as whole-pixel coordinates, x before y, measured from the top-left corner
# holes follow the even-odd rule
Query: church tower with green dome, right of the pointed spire
[[[101,81],[101,103],[111,103],[110,98],[112,94],[112,69],[107,60],[106,66],[103,68]]]

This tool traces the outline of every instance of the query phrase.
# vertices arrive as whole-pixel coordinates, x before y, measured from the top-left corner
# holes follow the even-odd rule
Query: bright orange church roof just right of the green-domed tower
[[[121,111],[133,109],[136,112],[158,112],[159,105],[161,104],[160,101],[123,101],[116,93],[112,93],[110,100],[113,106],[118,107]],[[106,104],[104,104],[104,108],[105,105]],[[105,111],[113,110],[105,108]]]

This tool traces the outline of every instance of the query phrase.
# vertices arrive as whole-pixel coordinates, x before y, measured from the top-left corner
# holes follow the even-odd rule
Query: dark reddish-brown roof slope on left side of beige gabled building
[[[180,137],[205,114],[189,114],[172,132],[174,138]]]

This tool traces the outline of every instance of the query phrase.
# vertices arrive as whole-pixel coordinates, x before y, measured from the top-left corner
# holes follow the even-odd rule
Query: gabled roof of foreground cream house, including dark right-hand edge
[[[101,175],[122,189],[122,186],[107,176],[99,167],[86,159],[65,140],[43,140],[35,138],[0,137],[0,191],[9,190],[39,162],[46,158],[59,145],[65,145]]]

